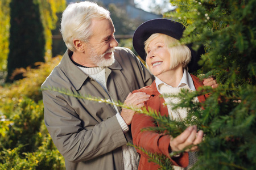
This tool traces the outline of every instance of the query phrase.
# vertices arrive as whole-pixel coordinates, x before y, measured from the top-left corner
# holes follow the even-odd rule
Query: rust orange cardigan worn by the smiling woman
[[[199,82],[199,79],[195,75],[191,75],[193,83],[196,90],[203,86],[203,83]],[[168,109],[163,105],[165,102],[163,97],[160,97],[160,94],[156,88],[155,81],[150,85],[143,87],[135,92],[146,92],[150,95],[150,99],[144,102],[145,107],[152,108],[156,112],[160,112],[162,116],[168,115]],[[205,101],[207,96],[198,96],[199,102]],[[143,128],[148,128],[156,126],[154,123],[154,118],[147,116],[146,114],[134,114],[133,120],[131,122],[131,134],[133,135],[133,143],[135,146],[140,146],[151,153],[160,153],[168,156],[173,165],[180,167],[188,166],[188,153],[184,152],[183,155],[178,158],[171,158],[169,155],[169,145],[170,137],[168,135],[159,134],[154,131],[141,131]],[[137,152],[141,155],[141,160],[139,161],[139,169],[158,169],[159,165],[148,162],[147,156],[143,154],[140,150]]]

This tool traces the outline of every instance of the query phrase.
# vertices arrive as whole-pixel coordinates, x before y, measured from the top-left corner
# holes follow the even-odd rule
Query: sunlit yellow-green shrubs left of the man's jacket
[[[65,169],[43,121],[40,86],[60,56],[0,87],[0,169]]]

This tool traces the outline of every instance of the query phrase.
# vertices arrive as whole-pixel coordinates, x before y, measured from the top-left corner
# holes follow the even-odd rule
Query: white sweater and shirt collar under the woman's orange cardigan
[[[180,80],[180,83],[177,87],[172,87],[166,83],[164,83],[162,80],[160,80],[159,78],[155,78],[155,83],[156,83],[156,87],[158,88],[158,91],[160,94],[172,94],[172,95],[176,95],[179,94],[181,92],[182,89],[185,90],[189,90],[189,92],[191,91],[196,91],[196,88],[193,84],[193,79],[191,77],[191,75],[188,73],[188,71],[184,70],[183,73],[183,77]],[[168,103],[174,103],[177,104],[180,102],[180,99],[177,97],[164,97],[164,100],[167,103],[167,108],[168,108],[168,114],[170,116],[170,118],[172,120],[176,120],[176,121],[183,121],[185,117],[187,117],[187,109],[186,108],[178,108],[176,110],[173,110],[172,105],[168,104]],[[198,98],[196,97],[194,99],[194,102],[199,102]],[[190,169],[193,164],[196,163],[197,161],[197,156],[196,156],[196,152],[188,152],[189,155],[189,164],[187,168],[182,168],[182,167],[177,167],[174,166],[175,170],[186,170],[186,169]]]

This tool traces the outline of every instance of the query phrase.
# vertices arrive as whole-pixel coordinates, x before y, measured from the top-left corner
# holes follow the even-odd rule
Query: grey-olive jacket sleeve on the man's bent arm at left
[[[63,96],[57,92],[43,91],[44,121],[61,155],[70,162],[97,158],[127,141],[116,116],[100,124],[82,127],[81,120]],[[84,111],[84,114],[86,111]],[[88,117],[85,121],[96,121]]]

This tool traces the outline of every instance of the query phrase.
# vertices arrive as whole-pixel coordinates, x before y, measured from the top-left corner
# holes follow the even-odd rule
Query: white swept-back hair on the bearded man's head
[[[60,32],[67,48],[75,51],[73,39],[88,42],[92,36],[92,19],[110,19],[110,12],[93,2],[71,3],[64,10]]]

